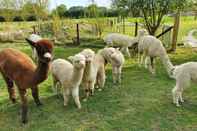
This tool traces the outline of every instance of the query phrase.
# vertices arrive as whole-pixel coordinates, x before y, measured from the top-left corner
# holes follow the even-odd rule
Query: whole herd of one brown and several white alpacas
[[[159,58],[170,78],[176,80],[176,86],[172,89],[173,103],[180,106],[184,102],[183,90],[190,86],[191,82],[197,81],[197,62],[188,62],[174,66],[162,44],[154,36],[148,35],[142,29],[136,37],[129,37],[118,33],[108,34],[104,37],[107,46],[97,52],[92,49],[84,49],[73,56],[65,59],[55,59],[53,56],[53,43],[42,37],[32,34],[26,41],[32,47],[33,58],[37,66],[26,54],[12,48],[3,49],[0,52],[0,72],[7,84],[10,100],[16,102],[14,84],[18,87],[21,98],[21,119],[27,123],[27,89],[30,88],[37,106],[42,105],[39,99],[38,85],[47,79],[51,72],[53,90],[61,94],[64,106],[68,105],[69,96],[72,95],[77,108],[82,108],[80,102],[80,86],[82,87],[87,101],[95,94],[95,88],[102,91],[105,87],[107,64],[112,66],[113,83],[121,83],[122,69],[125,63],[123,53],[130,57],[129,47],[137,43],[138,64],[144,66],[155,74],[155,58]],[[115,47],[119,48],[115,48]],[[60,89],[59,89],[60,88]]]

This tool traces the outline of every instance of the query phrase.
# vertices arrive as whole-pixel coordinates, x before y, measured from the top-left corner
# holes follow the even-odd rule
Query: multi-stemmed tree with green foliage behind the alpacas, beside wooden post
[[[182,9],[186,0],[112,0],[113,6],[142,14],[149,34],[155,35],[163,17],[170,11]]]

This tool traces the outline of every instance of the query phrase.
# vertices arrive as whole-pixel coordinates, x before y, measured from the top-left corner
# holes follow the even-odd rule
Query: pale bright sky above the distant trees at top
[[[95,0],[98,6],[110,7],[111,0]],[[71,6],[87,6],[91,0],[50,0],[50,10],[54,9],[57,5],[65,4],[67,8]]]

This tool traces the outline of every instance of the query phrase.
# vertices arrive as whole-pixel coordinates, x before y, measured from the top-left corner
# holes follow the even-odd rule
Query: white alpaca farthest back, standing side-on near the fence
[[[139,30],[137,37],[130,37],[119,33],[110,33],[106,35],[103,40],[107,44],[107,47],[120,47],[121,51],[130,57],[129,47],[132,47],[135,43],[137,43],[138,38],[146,33],[147,31],[144,29]]]

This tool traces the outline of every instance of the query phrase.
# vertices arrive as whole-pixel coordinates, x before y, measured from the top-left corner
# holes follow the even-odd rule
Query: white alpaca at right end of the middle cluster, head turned
[[[103,49],[103,55],[112,65],[113,83],[121,83],[122,67],[125,62],[123,54],[119,49],[109,47]]]

